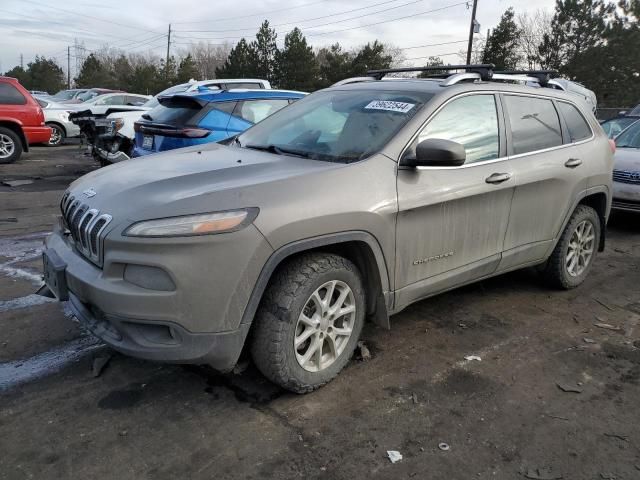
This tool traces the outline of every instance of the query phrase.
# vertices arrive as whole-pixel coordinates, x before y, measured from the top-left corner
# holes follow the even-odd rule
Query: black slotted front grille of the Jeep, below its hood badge
[[[66,228],[71,232],[75,247],[82,255],[98,266],[102,265],[103,231],[111,221],[111,215],[89,208],[69,193],[60,202],[60,210]]]

